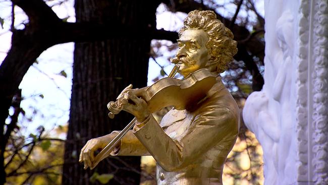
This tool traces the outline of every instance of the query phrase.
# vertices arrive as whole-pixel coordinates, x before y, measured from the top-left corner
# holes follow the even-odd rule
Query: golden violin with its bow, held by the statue
[[[150,86],[132,91],[137,97],[142,98],[147,103],[150,113],[168,106],[174,106],[177,110],[187,109],[205,98],[208,90],[216,82],[216,75],[206,68],[199,69],[184,79],[173,78],[178,69],[179,67],[176,65],[169,77],[162,78]],[[119,97],[116,102],[108,103],[107,108],[110,110],[108,116],[113,119],[115,114],[119,114],[123,110],[125,101],[127,100],[124,97]],[[114,150],[121,138],[134,126],[135,121],[136,118],[100,151],[94,158],[91,169],[103,160],[106,154]]]

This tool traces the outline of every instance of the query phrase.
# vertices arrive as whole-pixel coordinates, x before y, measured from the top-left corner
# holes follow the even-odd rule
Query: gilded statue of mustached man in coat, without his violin
[[[215,84],[205,98],[184,110],[173,108],[160,123],[128,86],[119,97],[127,100],[123,110],[133,114],[136,122],[106,156],[152,155],[157,161],[157,184],[222,184],[223,165],[235,144],[240,117],[219,74],[233,60],[237,43],[212,11],[190,12],[179,37],[179,50],[172,59],[179,66],[178,73],[187,77],[207,68],[215,74]],[[85,169],[92,166],[94,151],[104,148],[118,133],[87,142],[80,154]]]

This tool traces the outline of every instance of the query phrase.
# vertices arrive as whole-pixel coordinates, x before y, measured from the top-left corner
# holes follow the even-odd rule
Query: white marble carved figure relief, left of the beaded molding
[[[294,4],[278,8],[278,2],[265,2],[270,8],[265,12],[264,86],[247,98],[243,110],[245,124],[263,147],[265,184],[296,180]]]

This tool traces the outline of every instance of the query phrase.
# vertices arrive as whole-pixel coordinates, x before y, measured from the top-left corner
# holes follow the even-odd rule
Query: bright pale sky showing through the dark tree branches
[[[217,4],[226,2],[229,2],[229,0],[217,1]],[[74,1],[68,0],[60,5],[57,4],[60,4],[60,1],[53,0],[48,3],[59,18],[67,19],[68,22],[75,22]],[[263,0],[258,1],[256,4],[256,8],[260,10],[262,15],[264,15],[263,6]],[[230,17],[232,17],[235,10],[236,5],[216,8],[216,11],[220,14]],[[239,14],[247,16],[245,11],[241,11]],[[11,2],[7,0],[0,1],[0,19],[4,20],[4,24],[0,26],[0,63],[6,57],[11,46],[10,15]],[[157,29],[178,31],[182,27],[186,16],[187,14],[181,12],[169,12],[165,5],[161,4],[156,13]],[[254,17],[254,15],[248,16],[250,18]],[[24,12],[16,6],[15,28],[23,29],[27,20],[28,18]],[[172,42],[167,40],[152,40],[152,45],[156,45],[157,42],[163,45],[172,45]],[[24,130],[23,134],[29,135],[29,133],[35,132],[39,125],[43,125],[47,130],[50,130],[56,125],[65,125],[67,123],[72,86],[73,51],[73,42],[58,44],[47,49],[24,76],[19,86],[24,97],[21,107],[26,112],[25,117],[19,117],[20,125],[25,127],[25,129],[22,129]],[[160,54],[156,58],[156,62],[161,66],[165,66],[166,73],[170,73],[173,66],[169,64],[168,58],[173,57],[176,50],[168,51],[166,47],[160,47],[155,52]],[[153,79],[160,76],[161,68],[156,62],[149,59],[148,85],[153,83]]]

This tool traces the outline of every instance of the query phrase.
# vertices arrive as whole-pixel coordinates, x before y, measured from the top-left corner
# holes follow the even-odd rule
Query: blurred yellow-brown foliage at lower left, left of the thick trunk
[[[39,126],[29,136],[18,128],[14,132],[5,151],[6,184],[61,184],[65,141],[59,137],[66,134],[67,126],[51,131]]]

